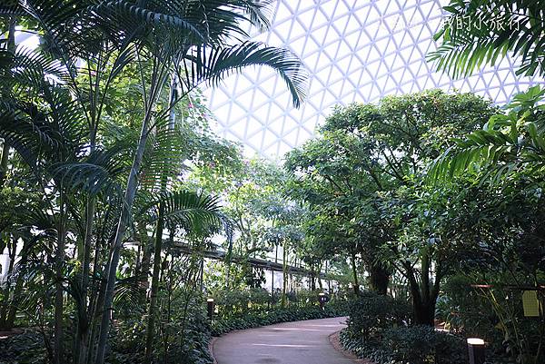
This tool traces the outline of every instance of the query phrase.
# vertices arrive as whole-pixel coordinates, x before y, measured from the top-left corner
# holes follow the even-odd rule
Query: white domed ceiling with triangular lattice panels
[[[387,94],[430,88],[473,91],[496,103],[532,80],[512,60],[461,80],[436,73],[425,55],[449,0],[279,0],[272,29],[255,39],[287,47],[310,73],[307,99],[294,109],[280,77],[264,68],[233,75],[207,90],[216,132],[246,152],[282,157],[312,137],[336,104],[374,102]]]

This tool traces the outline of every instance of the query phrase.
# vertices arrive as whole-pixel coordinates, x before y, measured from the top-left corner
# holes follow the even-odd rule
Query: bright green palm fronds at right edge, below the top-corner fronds
[[[498,184],[513,172],[532,173],[545,168],[545,108],[540,102],[545,88],[530,87],[505,107],[505,114],[464,139],[456,140],[431,163],[428,178],[450,179],[463,172],[481,172],[481,182]]]

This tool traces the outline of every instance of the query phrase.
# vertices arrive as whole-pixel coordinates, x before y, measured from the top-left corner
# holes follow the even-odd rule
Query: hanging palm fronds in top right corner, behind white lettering
[[[452,0],[447,18],[428,54],[438,70],[467,76],[484,64],[496,65],[506,54],[520,62],[517,74],[545,74],[545,2],[540,0]]]

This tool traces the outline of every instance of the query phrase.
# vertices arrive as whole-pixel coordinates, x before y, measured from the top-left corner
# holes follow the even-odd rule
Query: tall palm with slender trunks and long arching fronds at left
[[[47,84],[51,83],[51,76],[54,76],[54,82],[60,83],[55,87],[69,90],[73,99],[70,103],[62,104],[64,110],[56,107],[55,114],[63,115],[68,111],[70,118],[64,117],[63,121],[74,123],[77,125],[74,128],[79,128],[80,132],[84,125],[83,130],[86,131],[86,137],[78,132],[79,143],[73,145],[73,150],[79,150],[80,153],[66,154],[72,160],[77,157],[74,162],[70,164],[72,161],[70,158],[66,159],[67,157],[56,161],[69,163],[64,164],[64,172],[61,173],[63,178],[59,182],[64,182],[66,171],[71,171],[73,175],[79,176],[71,181],[88,187],[84,190],[87,193],[85,221],[84,224],[80,224],[81,230],[84,231],[81,248],[84,298],[87,294],[86,277],[89,272],[91,239],[94,231],[95,196],[97,192],[102,191],[102,187],[112,185],[115,178],[124,174],[107,173],[114,172],[112,169],[115,167],[112,166],[114,163],[104,158],[99,160],[108,165],[105,170],[101,169],[102,166],[93,163],[79,167],[77,164],[81,162],[81,152],[86,155],[84,158],[104,154],[103,148],[97,144],[97,135],[100,130],[99,125],[104,118],[104,103],[115,78],[128,65],[134,66],[140,78],[143,94],[141,133],[134,149],[134,159],[128,176],[123,183],[124,192],[120,197],[122,203],[117,215],[114,239],[110,244],[109,258],[105,262],[104,287],[101,288],[99,297],[94,303],[94,310],[102,312],[100,333],[96,343],[96,363],[104,362],[120,252],[123,249],[127,224],[133,215],[134,199],[138,190],[139,176],[142,173],[146,145],[157,125],[163,123],[173,106],[198,85],[217,84],[225,75],[239,72],[248,65],[263,64],[272,67],[286,82],[292,93],[293,103],[299,106],[302,102],[306,74],[302,69],[301,61],[287,50],[247,41],[248,34],[243,30],[248,23],[262,30],[266,29],[268,26],[266,13],[271,3],[271,1],[233,0],[155,1],[134,4],[124,0],[101,2],[66,0],[59,5],[58,1],[36,0],[13,1],[0,7],[0,15],[16,15],[31,19],[37,24],[43,40],[43,46],[39,52],[27,52],[26,55],[21,54],[19,58],[21,62],[27,62],[26,66],[31,63],[35,69],[39,70],[37,74],[40,74],[40,77],[35,77],[36,73],[22,72],[15,78],[26,77],[28,83],[35,89],[45,90],[49,87]],[[8,68],[8,70],[14,69],[14,67]],[[24,69],[32,68],[24,67]],[[160,110],[157,104],[168,77],[172,75],[178,84],[177,98],[169,107]],[[19,97],[19,95],[15,96]],[[27,148],[28,143],[35,144],[36,148],[39,148],[43,144],[40,138],[43,135],[36,135],[35,129],[32,128],[20,129],[21,118],[18,116],[21,110],[19,109],[14,104],[3,107],[3,114],[13,116],[5,120],[13,123],[3,125],[2,133],[7,143],[17,152],[27,152],[28,155],[24,157],[29,165],[34,165],[32,163],[36,158],[32,154],[32,148]],[[38,123],[32,118],[31,122]],[[64,141],[53,141],[64,143]],[[104,175],[104,171],[107,176]],[[58,191],[63,192],[64,186],[61,186]],[[59,198],[61,208],[69,203],[64,192],[60,193]],[[70,206],[66,205],[66,209],[61,209],[62,212],[65,210],[70,210]],[[58,261],[62,261],[64,222],[67,216],[66,213],[60,215],[60,221],[63,223],[59,225]],[[61,286],[58,287],[58,291],[60,290],[62,290]],[[60,306],[61,300],[58,300],[58,303]],[[62,313],[62,307],[58,309],[59,313]],[[55,361],[60,362],[62,360],[62,315],[58,315],[56,319]],[[90,339],[93,340],[93,337]],[[92,348],[94,345],[89,347]],[[83,354],[79,362],[83,363],[89,359],[89,354]]]

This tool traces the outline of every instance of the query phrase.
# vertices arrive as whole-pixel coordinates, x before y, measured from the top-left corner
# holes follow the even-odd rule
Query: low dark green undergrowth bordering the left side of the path
[[[213,362],[209,342],[213,336],[220,336],[233,330],[244,330],[259,326],[296,320],[325,319],[343,316],[347,313],[346,303],[334,300],[322,310],[316,301],[307,301],[313,293],[302,291],[297,300],[282,308],[272,305],[268,308],[264,290],[233,290],[223,294],[228,305],[218,305],[211,323],[206,317],[203,305],[190,304],[173,313],[171,320],[162,322],[156,342],[154,357],[162,363],[209,364]],[[253,304],[248,297],[259,297]],[[202,301],[202,300],[201,300]],[[194,303],[194,301],[193,301]],[[250,307],[249,307],[250,306]],[[178,309],[182,309],[178,307]],[[66,332],[68,334],[68,331]],[[47,344],[40,330],[29,328],[20,334],[0,339],[0,364],[41,364],[48,360]],[[69,338],[67,335],[66,337]],[[72,340],[73,338],[70,338]],[[70,341],[67,341],[67,345]],[[106,357],[109,364],[139,364],[144,362],[145,325],[144,320],[118,320],[109,339],[110,350]],[[68,358],[70,359],[70,358]]]

